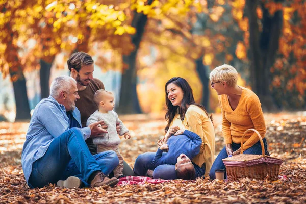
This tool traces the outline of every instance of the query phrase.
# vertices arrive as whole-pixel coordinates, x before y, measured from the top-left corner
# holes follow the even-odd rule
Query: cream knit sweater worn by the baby
[[[121,140],[117,134],[116,130],[116,122],[119,123],[119,127],[121,129],[120,136],[124,135],[124,133],[129,132],[129,130],[124,126],[123,122],[119,119],[118,115],[114,111],[109,111],[108,113],[100,113],[95,111],[87,120],[86,125],[90,125],[94,122],[98,122],[103,120],[107,125],[107,132],[101,134],[101,137],[95,137],[92,139],[94,144],[101,144],[105,146],[114,146],[120,144]]]

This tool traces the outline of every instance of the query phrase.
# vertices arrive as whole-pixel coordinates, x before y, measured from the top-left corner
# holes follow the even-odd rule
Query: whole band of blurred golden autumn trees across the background
[[[0,71],[13,85],[16,120],[30,118],[33,79],[24,73],[39,70],[38,94],[48,97],[52,69],[68,74],[67,58],[81,50],[104,73],[120,73],[113,80],[121,114],[162,112],[174,76],[218,112],[208,77],[224,63],[265,111],[304,109],[305,8],[302,0],[2,0]]]

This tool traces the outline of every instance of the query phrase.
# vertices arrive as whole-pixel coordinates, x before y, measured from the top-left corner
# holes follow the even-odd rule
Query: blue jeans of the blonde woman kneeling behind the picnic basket
[[[269,152],[267,150],[267,140],[266,140],[266,138],[263,139],[263,142],[264,142],[264,147],[265,147],[265,154],[269,156],[270,154],[269,154]],[[240,148],[240,146],[241,146],[240,144],[233,143],[232,144],[232,150],[236,151],[237,149]],[[245,151],[243,151],[243,154],[261,155],[262,154],[262,148],[261,148],[260,141],[258,141],[253,146],[251,146],[250,148],[248,148]],[[223,164],[222,159],[225,159],[227,157],[228,157],[228,155],[227,155],[226,149],[224,147],[220,151],[219,155],[217,156],[217,158],[216,158],[215,162],[213,163],[213,166],[212,166],[212,168],[210,170],[209,177],[211,179],[216,179],[216,176],[215,176],[215,170],[216,169],[224,169],[225,170],[225,165]],[[226,179],[226,171],[224,173],[224,179]]]

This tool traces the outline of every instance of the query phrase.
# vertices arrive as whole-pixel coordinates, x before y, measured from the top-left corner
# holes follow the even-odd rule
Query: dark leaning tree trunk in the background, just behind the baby
[[[152,4],[153,0],[148,1],[148,5]],[[136,28],[136,33],[132,36],[132,43],[135,46],[130,55],[123,55],[123,63],[129,66],[123,70],[121,78],[121,90],[119,107],[117,112],[120,114],[133,114],[141,113],[139,100],[137,96],[137,70],[136,70],[136,57],[141,42],[144,28],[147,22],[147,16],[143,13],[134,11],[132,26]]]

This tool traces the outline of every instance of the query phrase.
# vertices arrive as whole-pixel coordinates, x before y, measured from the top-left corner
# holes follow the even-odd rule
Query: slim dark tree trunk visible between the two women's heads
[[[209,75],[208,75],[208,67],[203,64],[203,56],[195,60],[196,71],[198,73],[198,77],[202,83],[202,99],[201,104],[209,111]]]

